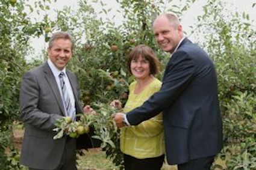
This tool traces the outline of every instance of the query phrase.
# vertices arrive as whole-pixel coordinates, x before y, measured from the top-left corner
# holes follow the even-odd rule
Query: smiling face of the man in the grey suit
[[[72,56],[71,41],[63,38],[54,40],[52,47],[48,48],[48,55],[58,70],[63,70]]]

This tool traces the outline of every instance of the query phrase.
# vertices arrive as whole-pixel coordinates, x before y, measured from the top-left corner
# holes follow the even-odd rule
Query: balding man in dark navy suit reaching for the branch
[[[116,125],[137,125],[163,112],[167,162],[178,164],[179,170],[210,169],[222,148],[213,62],[203,49],[183,37],[175,14],[158,16],[153,29],[161,49],[172,53],[163,85],[139,108],[116,114]]]

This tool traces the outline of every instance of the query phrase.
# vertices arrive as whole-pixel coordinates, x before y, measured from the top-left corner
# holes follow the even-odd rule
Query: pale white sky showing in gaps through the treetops
[[[33,2],[34,0],[30,0]],[[93,3],[90,3],[92,0],[89,0],[89,4],[92,4],[95,8],[96,12],[100,11],[100,5],[95,5]],[[167,0],[166,0],[167,1]],[[254,25],[256,21],[256,6],[252,8],[252,4],[256,3],[255,0],[223,0],[228,3],[227,7],[230,9],[230,11],[240,11],[241,13],[245,11],[249,14],[250,18],[253,20]],[[116,0],[103,0],[105,4],[107,4],[107,8],[112,8],[110,17],[117,14],[116,10],[119,9],[119,4],[117,4]],[[202,14],[202,6],[205,5],[207,0],[197,0],[187,11],[187,13],[183,16],[183,19],[181,20],[181,24],[183,25],[183,29],[185,31],[189,31],[189,26],[193,25],[196,21],[196,17],[199,14]],[[77,0],[57,0],[57,2],[51,4],[51,10],[49,11],[49,16],[52,18],[56,18],[57,14],[55,13],[55,10],[61,10],[64,6],[70,6],[71,8],[75,9],[78,7]],[[120,15],[116,15],[117,21],[121,21],[122,18]],[[117,23],[118,24],[118,23]],[[193,40],[193,37],[190,37],[190,39]],[[45,40],[43,37],[40,38],[32,38],[31,39],[31,45],[34,48],[34,55],[31,56],[32,58],[39,58],[39,56],[42,55],[42,50],[46,49],[48,46],[47,43],[45,43]]]

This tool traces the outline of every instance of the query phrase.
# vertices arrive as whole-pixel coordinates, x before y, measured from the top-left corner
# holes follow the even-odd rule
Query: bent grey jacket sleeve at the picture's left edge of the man
[[[37,78],[28,72],[23,76],[20,87],[20,119],[39,129],[52,131],[55,127],[55,121],[61,116],[40,111],[38,108],[39,100],[40,87]]]

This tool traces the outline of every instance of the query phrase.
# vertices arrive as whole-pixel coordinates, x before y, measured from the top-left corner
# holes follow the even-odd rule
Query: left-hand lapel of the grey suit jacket
[[[55,80],[54,74],[52,73],[51,68],[49,67],[47,62],[44,65],[44,71],[46,80],[49,83],[49,87],[51,87],[52,93],[54,94],[55,99],[57,100],[58,106],[60,107],[61,112],[64,115],[64,106],[61,99],[60,90],[58,89],[58,85]]]

